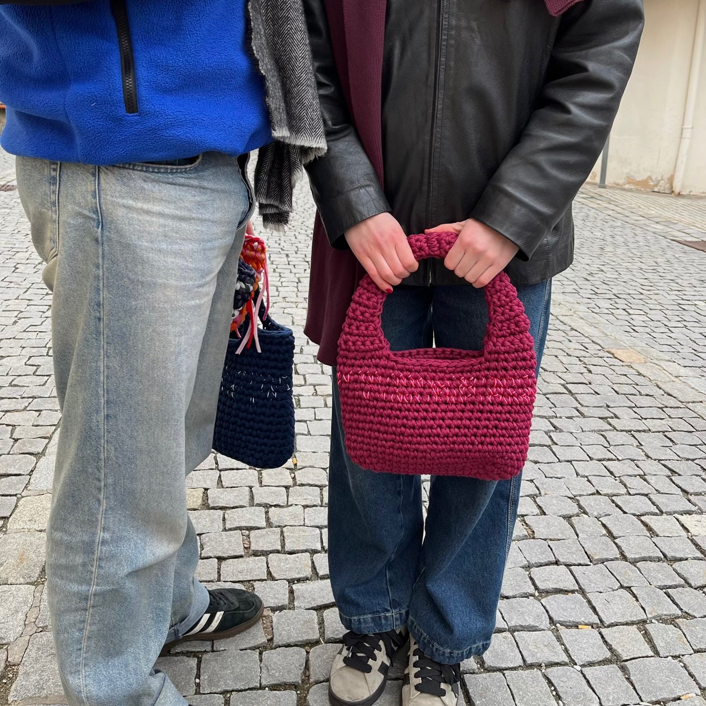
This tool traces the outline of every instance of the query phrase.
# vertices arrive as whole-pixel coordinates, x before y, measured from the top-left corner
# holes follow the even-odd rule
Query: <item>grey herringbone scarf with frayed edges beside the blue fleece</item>
[[[301,0],[249,0],[249,12],[274,138],[259,152],[255,198],[265,227],[282,230],[294,184],[325,153],[326,137]]]

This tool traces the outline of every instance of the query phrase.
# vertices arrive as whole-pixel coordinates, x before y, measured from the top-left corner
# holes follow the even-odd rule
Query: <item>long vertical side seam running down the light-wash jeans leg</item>
[[[88,592],[88,606],[86,608],[86,621],[83,628],[83,641],[81,642],[81,659],[80,659],[80,680],[81,680],[81,699],[83,700],[84,706],[90,706],[86,698],[86,686],[85,686],[85,653],[86,644],[88,642],[88,631],[90,629],[90,617],[93,606],[93,597],[95,595],[95,588],[98,580],[98,565],[100,559],[100,549],[102,545],[102,534],[103,534],[103,520],[105,514],[105,459],[106,459],[106,425],[105,425],[105,414],[106,414],[106,402],[105,402],[105,390],[106,390],[106,361],[105,361],[105,326],[104,326],[104,253],[103,253],[103,215],[100,209],[100,167],[95,167],[95,201],[96,201],[96,212],[98,216],[98,267],[99,267],[99,292],[100,292],[100,343],[101,343],[101,411],[102,411],[102,449],[100,457],[100,513],[98,516],[98,532],[95,544],[95,555],[93,559],[93,576],[91,580],[90,591]]]

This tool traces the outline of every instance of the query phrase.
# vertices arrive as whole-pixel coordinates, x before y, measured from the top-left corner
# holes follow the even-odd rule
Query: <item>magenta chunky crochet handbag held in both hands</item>
[[[417,260],[444,258],[453,233],[412,235]],[[378,472],[504,480],[527,460],[537,392],[534,341],[504,272],[485,288],[481,351],[390,351],[381,313],[387,294],[366,275],[338,348],[337,380],[352,460]]]

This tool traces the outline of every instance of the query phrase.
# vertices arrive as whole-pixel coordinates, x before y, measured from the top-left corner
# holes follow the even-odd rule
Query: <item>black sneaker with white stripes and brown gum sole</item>
[[[208,592],[208,609],[181,640],[164,645],[162,654],[191,640],[224,640],[251,628],[263,614],[263,602],[256,594],[240,588],[215,588]]]

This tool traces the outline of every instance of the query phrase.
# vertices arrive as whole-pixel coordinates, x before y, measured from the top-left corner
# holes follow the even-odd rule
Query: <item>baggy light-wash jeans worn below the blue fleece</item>
[[[54,290],[63,416],[47,587],[71,705],[186,704],[153,667],[208,607],[186,475],[213,439],[251,213],[245,162],[17,160]]]

